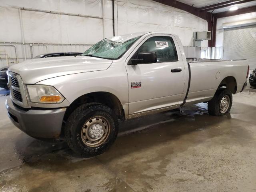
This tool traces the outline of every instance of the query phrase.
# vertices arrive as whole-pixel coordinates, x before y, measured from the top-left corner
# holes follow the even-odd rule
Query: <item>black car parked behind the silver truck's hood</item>
[[[81,54],[82,53],[79,53],[79,52],[47,53],[47,54],[38,55],[38,56],[34,57],[33,59],[46,58],[46,57],[78,56]],[[8,70],[7,66],[0,68],[0,88],[9,89],[7,86],[7,83],[8,83],[8,77],[6,74],[7,70]]]

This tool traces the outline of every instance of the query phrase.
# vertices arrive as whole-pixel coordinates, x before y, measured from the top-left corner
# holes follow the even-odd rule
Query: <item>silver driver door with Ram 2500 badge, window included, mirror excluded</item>
[[[184,92],[185,69],[174,36],[146,37],[126,60],[129,115],[175,108]],[[129,65],[141,52],[156,52],[157,62]],[[175,70],[173,70],[175,69]]]

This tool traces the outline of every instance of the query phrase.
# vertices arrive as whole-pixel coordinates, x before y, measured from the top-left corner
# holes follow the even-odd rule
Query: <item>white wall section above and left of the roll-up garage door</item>
[[[239,22],[242,20],[253,19],[256,18],[256,12],[240,14],[236,16],[218,18],[216,24],[216,47],[222,47],[224,42],[224,29],[222,29],[222,25],[227,22]]]

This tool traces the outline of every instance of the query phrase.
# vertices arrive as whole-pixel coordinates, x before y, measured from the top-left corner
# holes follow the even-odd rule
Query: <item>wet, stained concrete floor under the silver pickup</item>
[[[197,104],[122,123],[112,148],[89,159],[65,142],[18,130],[5,100],[0,96],[0,191],[256,191],[256,90],[249,86],[225,116],[208,116],[207,104]]]

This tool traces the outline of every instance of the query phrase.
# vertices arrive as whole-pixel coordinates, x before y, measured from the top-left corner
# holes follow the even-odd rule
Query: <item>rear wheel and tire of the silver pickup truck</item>
[[[230,112],[232,106],[232,93],[227,88],[220,88],[208,102],[209,115],[218,116]]]

